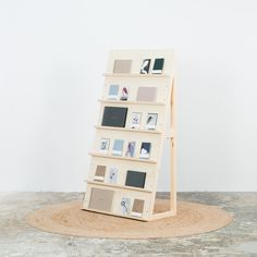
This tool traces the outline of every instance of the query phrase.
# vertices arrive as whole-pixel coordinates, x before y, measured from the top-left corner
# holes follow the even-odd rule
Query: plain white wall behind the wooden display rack
[[[176,51],[178,189],[256,191],[256,24],[254,0],[0,0],[0,191],[84,189],[115,48]]]

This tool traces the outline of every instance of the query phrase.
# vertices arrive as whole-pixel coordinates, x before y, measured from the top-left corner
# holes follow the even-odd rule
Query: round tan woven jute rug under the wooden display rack
[[[156,210],[169,200],[158,199]],[[160,238],[206,233],[229,224],[233,218],[219,207],[179,201],[175,217],[143,222],[82,210],[82,203],[48,206],[30,213],[28,224],[47,232],[106,238]]]

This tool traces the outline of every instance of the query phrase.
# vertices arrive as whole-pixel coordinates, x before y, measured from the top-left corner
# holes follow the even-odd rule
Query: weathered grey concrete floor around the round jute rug
[[[26,215],[37,208],[82,197],[81,193],[0,193],[0,257],[257,256],[257,193],[179,193],[179,200],[218,205],[234,216],[230,225],[194,236],[86,238],[46,233],[25,223]]]

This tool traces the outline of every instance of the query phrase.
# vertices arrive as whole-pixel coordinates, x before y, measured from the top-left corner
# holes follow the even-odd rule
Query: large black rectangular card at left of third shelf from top
[[[101,121],[102,126],[125,127],[127,108],[105,107]]]

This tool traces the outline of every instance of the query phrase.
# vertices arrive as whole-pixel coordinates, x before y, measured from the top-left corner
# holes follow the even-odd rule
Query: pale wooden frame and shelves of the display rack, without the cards
[[[151,69],[156,58],[163,58],[164,64],[161,74],[152,74]],[[142,63],[145,59],[151,59],[151,65],[148,74],[139,74]],[[132,60],[130,73],[113,73],[115,60]],[[175,183],[175,131],[174,131],[174,52],[173,50],[113,50],[110,53],[107,73],[105,76],[103,96],[100,102],[100,115],[96,125],[96,138],[94,150],[90,152],[91,164],[87,182],[86,194],[83,200],[83,209],[113,215],[124,218],[131,218],[143,221],[151,221],[176,215],[176,183]],[[108,99],[108,90],[111,84],[126,85],[130,87],[127,100]],[[157,87],[158,94],[156,101],[136,101],[138,87]],[[127,107],[125,127],[102,126],[101,119],[105,107]],[[133,112],[140,112],[143,117],[147,113],[158,113],[156,130],[147,130],[142,119],[140,127],[131,128],[130,121]],[[136,142],[135,156],[133,158],[122,156],[112,156],[111,147],[108,154],[99,152],[101,138],[123,138],[126,142]],[[170,208],[163,212],[155,212],[155,201],[157,192],[157,181],[161,167],[162,148],[166,139],[170,140]],[[151,152],[149,159],[139,158],[139,147],[142,142],[151,143]],[[108,168],[115,166],[119,170],[117,183],[108,183],[107,179],[102,182],[95,181],[97,166]],[[144,188],[126,186],[126,171],[146,172]],[[113,193],[113,199],[110,210],[95,209],[90,207],[90,195],[93,188],[110,189]],[[135,199],[144,200],[144,210],[142,216],[124,215],[121,211],[121,200],[123,197],[131,199],[130,209]]]

